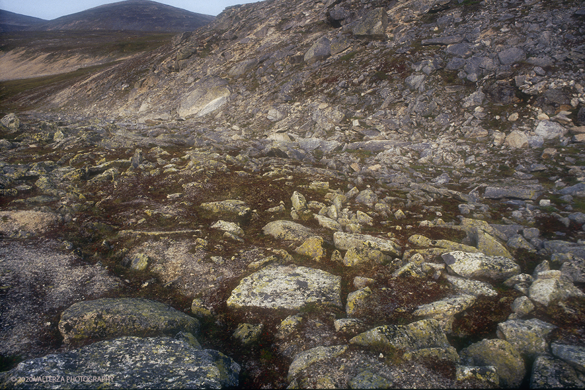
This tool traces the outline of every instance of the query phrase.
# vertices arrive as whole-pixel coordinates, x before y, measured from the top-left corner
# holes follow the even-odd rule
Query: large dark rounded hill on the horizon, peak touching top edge
[[[215,16],[186,11],[148,0],[126,0],[49,20],[32,30],[192,31]]]

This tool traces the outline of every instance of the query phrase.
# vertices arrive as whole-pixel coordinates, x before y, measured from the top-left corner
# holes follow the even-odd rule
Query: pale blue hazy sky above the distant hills
[[[0,0],[0,9],[41,19],[55,19],[70,13],[85,11],[102,4],[119,0]],[[162,4],[183,8],[187,11],[218,15],[227,6],[246,4],[253,0],[154,0]]]

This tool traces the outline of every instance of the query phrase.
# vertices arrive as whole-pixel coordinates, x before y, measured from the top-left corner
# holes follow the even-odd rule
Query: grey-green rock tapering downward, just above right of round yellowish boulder
[[[507,320],[498,324],[497,334],[500,339],[509,341],[527,358],[535,358],[548,351],[546,336],[556,326],[539,319]]]

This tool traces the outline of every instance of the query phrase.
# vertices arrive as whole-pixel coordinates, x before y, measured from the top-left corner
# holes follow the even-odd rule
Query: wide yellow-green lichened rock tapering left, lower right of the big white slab
[[[378,326],[358,334],[349,343],[362,347],[390,347],[407,351],[449,347],[445,332],[435,319],[420,320],[408,325]]]

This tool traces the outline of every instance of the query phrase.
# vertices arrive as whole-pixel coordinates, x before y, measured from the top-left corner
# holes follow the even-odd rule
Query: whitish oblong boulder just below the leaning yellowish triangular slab
[[[443,254],[442,257],[450,273],[466,278],[490,278],[495,281],[504,281],[520,272],[518,264],[503,256],[453,251]]]

